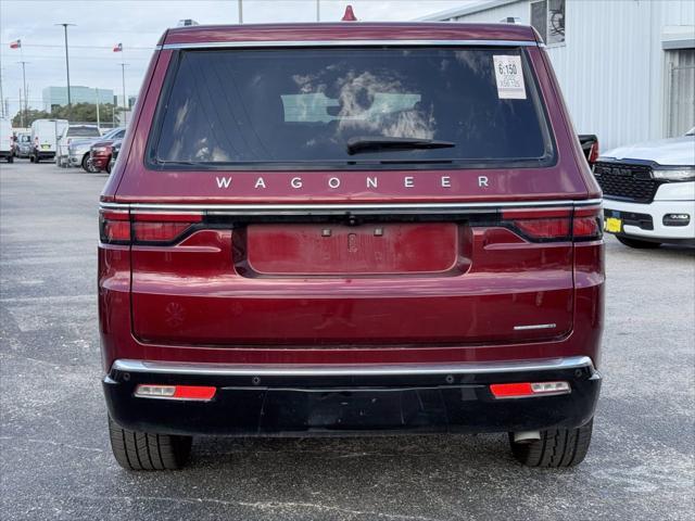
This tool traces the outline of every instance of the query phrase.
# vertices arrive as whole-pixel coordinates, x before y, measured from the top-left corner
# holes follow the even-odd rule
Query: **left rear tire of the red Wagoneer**
[[[191,454],[191,436],[173,436],[122,429],[109,417],[111,449],[126,470],[177,470]]]

